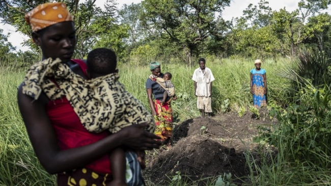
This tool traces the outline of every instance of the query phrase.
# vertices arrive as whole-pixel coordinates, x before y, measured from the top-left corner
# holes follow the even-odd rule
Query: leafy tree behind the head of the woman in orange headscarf
[[[0,2],[0,18],[3,23],[11,24],[16,31],[31,36],[30,25],[24,20],[24,15],[36,6],[48,3],[47,0],[3,0]],[[63,1],[74,17],[77,33],[77,45],[74,57],[84,58],[95,46],[113,48],[121,52],[122,39],[127,37],[127,27],[118,23],[115,0],[107,0],[104,9],[95,5],[96,0],[65,0]],[[30,46],[35,51],[37,46],[27,40],[23,45]]]

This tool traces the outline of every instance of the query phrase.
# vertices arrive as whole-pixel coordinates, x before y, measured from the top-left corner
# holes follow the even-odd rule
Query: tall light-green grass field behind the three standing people
[[[255,68],[254,62],[249,60],[222,59],[209,62],[206,59],[206,67],[210,68],[215,77],[212,83],[212,109],[214,113],[221,113],[223,101],[230,99],[230,109],[238,111],[240,107],[249,108],[253,104],[250,93],[250,70]],[[262,68],[267,71],[268,101],[275,104],[288,104],[289,79],[275,75],[282,67],[284,59],[279,63],[267,60]],[[193,67],[182,64],[167,64],[161,62],[161,71],[171,72],[172,81],[176,87],[176,94],[181,95],[173,101],[174,111],[181,118],[197,116],[196,97],[194,95],[194,83],[192,74],[198,68],[198,62]],[[148,63],[145,66],[119,65],[120,81],[126,89],[140,99],[149,108],[145,83],[150,74]],[[176,103],[177,102],[177,103]],[[180,108],[179,108],[180,107]]]

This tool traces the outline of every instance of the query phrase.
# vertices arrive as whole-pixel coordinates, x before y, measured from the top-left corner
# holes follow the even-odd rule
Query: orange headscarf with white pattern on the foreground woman
[[[63,21],[73,21],[64,3],[45,3],[25,14],[33,32]]]

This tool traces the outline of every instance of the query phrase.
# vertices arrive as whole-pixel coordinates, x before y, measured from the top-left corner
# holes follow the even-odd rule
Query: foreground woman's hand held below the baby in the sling
[[[144,128],[149,126],[149,123],[131,125],[123,128],[118,133],[121,134],[122,144],[138,150],[152,150],[160,148],[161,142],[156,141],[161,138],[146,131]]]

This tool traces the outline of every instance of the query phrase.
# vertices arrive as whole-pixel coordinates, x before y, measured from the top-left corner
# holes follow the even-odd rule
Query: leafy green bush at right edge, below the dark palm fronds
[[[300,104],[292,104],[287,110],[274,108],[279,126],[274,130],[262,128],[255,140],[283,148],[288,162],[329,168],[331,90],[326,85],[317,89],[306,82],[297,96]]]

